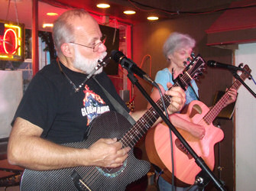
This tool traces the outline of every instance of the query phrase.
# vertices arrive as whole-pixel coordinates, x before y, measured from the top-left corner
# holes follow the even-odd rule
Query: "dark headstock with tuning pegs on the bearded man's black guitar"
[[[203,71],[206,70],[204,67],[206,65],[206,61],[203,60],[203,57],[199,54],[196,57],[193,57],[193,60],[189,60],[189,62],[190,63],[183,70],[183,73],[174,79],[174,83],[178,83],[178,85],[184,90],[186,90],[186,87],[192,79],[198,79],[199,76],[203,75]]]

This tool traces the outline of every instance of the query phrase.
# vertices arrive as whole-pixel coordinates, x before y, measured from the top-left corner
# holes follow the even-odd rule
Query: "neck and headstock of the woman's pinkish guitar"
[[[247,65],[244,67],[245,71],[241,73],[240,78],[245,81],[246,78],[248,78],[249,74],[251,73],[251,70]],[[241,86],[241,82],[236,79],[235,83],[232,84],[231,89],[238,90]],[[225,92],[225,94],[222,96],[221,99],[209,110],[209,112],[203,117],[203,120],[206,121],[206,124],[210,125],[212,121],[219,115],[219,112],[222,111],[222,108],[225,106],[225,102],[228,101],[230,98],[230,95],[228,95],[228,92]]]

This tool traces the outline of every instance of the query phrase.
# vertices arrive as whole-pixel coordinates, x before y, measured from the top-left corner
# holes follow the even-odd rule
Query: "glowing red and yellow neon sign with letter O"
[[[24,25],[0,21],[0,60],[24,60]]]

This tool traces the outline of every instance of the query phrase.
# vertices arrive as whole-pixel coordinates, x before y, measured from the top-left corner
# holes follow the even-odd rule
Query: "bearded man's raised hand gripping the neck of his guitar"
[[[171,83],[167,83],[168,89],[172,86]],[[173,87],[170,90],[166,91],[165,94],[171,95],[170,105],[167,108],[169,115],[180,112],[186,102],[186,94],[184,90],[180,87]]]

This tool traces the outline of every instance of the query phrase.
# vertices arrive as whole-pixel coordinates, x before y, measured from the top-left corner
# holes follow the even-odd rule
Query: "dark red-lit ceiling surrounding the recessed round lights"
[[[63,7],[85,8],[93,13],[100,15],[108,15],[128,21],[130,23],[138,23],[147,21],[147,16],[156,15],[163,19],[177,18],[183,15],[193,15],[196,12],[209,12],[219,9],[228,8],[231,2],[237,0],[41,0],[51,5],[59,5]],[[96,7],[99,2],[107,2],[111,6],[107,9]],[[132,9],[136,11],[136,15],[124,15],[123,11]]]

